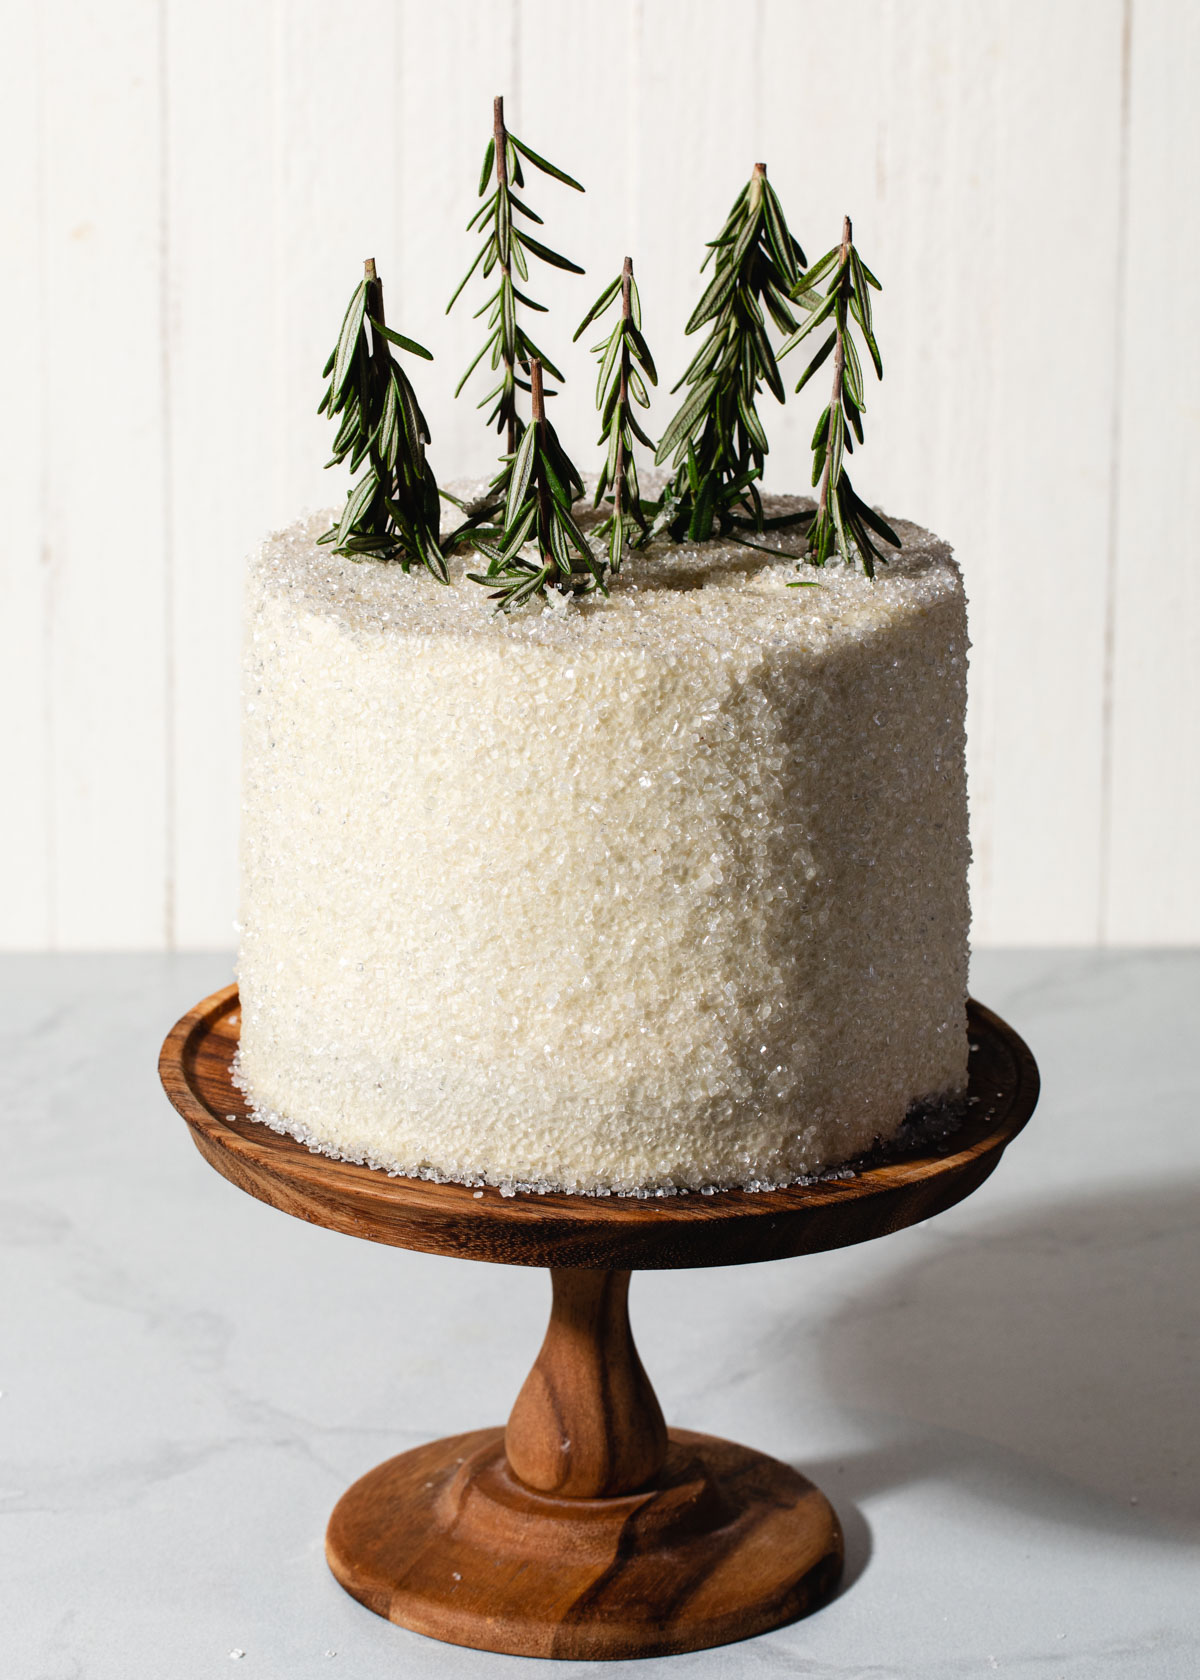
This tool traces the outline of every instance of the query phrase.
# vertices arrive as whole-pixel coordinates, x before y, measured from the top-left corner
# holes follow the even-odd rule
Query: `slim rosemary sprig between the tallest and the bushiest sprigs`
[[[642,301],[634,279],[634,259],[625,264],[617,279],[605,286],[597,301],[575,329],[575,338],[587,331],[605,309],[620,297],[620,314],[608,338],[593,346],[600,358],[597,378],[597,408],[600,410],[600,444],[607,445],[605,462],[597,480],[593,507],[600,507],[612,486],[612,514],[597,528],[597,536],[608,538],[608,566],[620,571],[630,521],[645,534],[647,519],[642,509],[642,491],[637,482],[634,438],[654,449],[634,415],[630,396],[642,408],[650,407],[645,381],[659,383],[650,348],[642,338]]]

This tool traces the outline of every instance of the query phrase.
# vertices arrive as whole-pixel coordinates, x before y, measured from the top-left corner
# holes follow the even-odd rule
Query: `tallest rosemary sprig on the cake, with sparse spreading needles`
[[[548,245],[533,239],[533,235],[528,234],[516,220],[518,217],[523,217],[526,222],[536,222],[541,225],[541,217],[536,210],[531,210],[513,192],[514,186],[524,188],[524,173],[521,170],[523,158],[526,163],[531,163],[534,170],[541,170],[543,175],[551,175],[556,181],[573,186],[578,193],[583,192],[576,180],[565,175],[563,170],[548,163],[545,158],[539,158],[536,151],[524,144],[524,141],[509,133],[504,126],[504,101],[497,97],[492,104],[492,138],[487,141],[484,165],[479,171],[479,197],[484,198],[491,181],[494,181],[494,186],[479,210],[476,210],[467,222],[467,232],[476,232],[477,228],[486,230],[484,242],[476,254],[476,260],[462,276],[454,289],[454,296],[445,306],[445,312],[449,314],[450,309],[454,309],[464,286],[481,265],[484,277],[499,274],[496,291],[476,311],[476,319],[481,314],[487,314],[487,339],[459,380],[457,390],[454,391],[457,396],[484,356],[491,354],[491,368],[494,373],[499,373],[501,378],[499,385],[492,386],[492,390],[489,390],[479,402],[479,407],[486,408],[487,403],[494,403],[492,412],[487,415],[487,425],[494,425],[504,437],[506,444],[504,465],[494,480],[496,499],[491,504],[492,511],[499,507],[508,494],[513,459],[516,455],[516,447],[521,442],[521,433],[524,432],[524,420],[518,413],[516,393],[518,390],[528,391],[529,381],[521,378],[518,368],[528,366],[531,358],[536,356],[548,373],[551,373],[560,383],[563,381],[563,375],[558,371],[555,363],[550,361],[545,351],[538,349],[518,321],[518,304],[524,304],[526,309],[536,309],[541,314],[546,312],[546,306],[519,291],[516,281],[524,282],[529,279],[529,257],[538,257],[539,262],[546,262],[553,269],[566,269],[571,274],[583,274],[583,269],[576,262],[560,255],[556,250],[550,250]],[[513,279],[514,274],[516,281]],[[546,395],[553,393],[548,391]]]

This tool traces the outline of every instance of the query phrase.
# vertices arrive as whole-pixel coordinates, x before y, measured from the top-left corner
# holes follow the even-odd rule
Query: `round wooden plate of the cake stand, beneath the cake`
[[[232,1082],[237,986],[215,991],[166,1037],[160,1075],[200,1154],[284,1213],[351,1236],[508,1265],[647,1270],[741,1265],[884,1236],[953,1206],[993,1171],[1034,1112],[1037,1065],[992,1010],[968,1003],[968,1109],[939,1144],[850,1163],[850,1176],[787,1189],[573,1196],[482,1193],[395,1178],[316,1154],[250,1119]]]

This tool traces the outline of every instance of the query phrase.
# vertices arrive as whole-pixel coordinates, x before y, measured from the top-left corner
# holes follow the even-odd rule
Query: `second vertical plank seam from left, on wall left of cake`
[[[163,949],[175,949],[178,741],[175,670],[175,438],[171,432],[171,148],[168,0],[158,0],[158,402],[163,506]]]

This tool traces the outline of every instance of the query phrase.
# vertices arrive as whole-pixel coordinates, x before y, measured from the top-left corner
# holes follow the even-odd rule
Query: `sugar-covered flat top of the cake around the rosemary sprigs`
[[[462,499],[484,486],[455,486]],[[810,507],[797,496],[763,499],[768,517]],[[583,526],[590,522],[582,521]],[[481,637],[491,642],[560,648],[603,642],[666,648],[708,643],[728,648],[739,635],[820,650],[830,640],[861,637],[960,588],[950,548],[929,531],[894,521],[903,549],[889,551],[874,581],[857,568],[830,561],[822,570],[797,568],[795,531],[703,544],[655,541],[627,558],[608,580],[610,595],[551,593],[513,613],[497,613],[489,591],[469,581],[482,571],[479,556],[454,556],[450,586],[424,568],[355,561],[318,544],[329,514],[311,514],[274,533],[252,559],[261,585],[286,595],[351,633],[371,637]],[[770,549],[771,553],[765,553]],[[778,558],[776,558],[778,556]],[[802,580],[807,586],[792,585]]]

